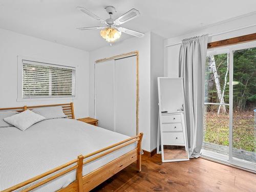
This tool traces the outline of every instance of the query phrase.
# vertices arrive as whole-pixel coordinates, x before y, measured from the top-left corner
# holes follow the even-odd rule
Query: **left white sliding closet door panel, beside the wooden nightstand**
[[[115,61],[95,64],[95,118],[98,126],[114,131]]]

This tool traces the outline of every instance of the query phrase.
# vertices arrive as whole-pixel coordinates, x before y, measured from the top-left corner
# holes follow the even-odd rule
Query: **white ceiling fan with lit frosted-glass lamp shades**
[[[101,29],[100,35],[108,42],[114,42],[117,39],[120,38],[121,33],[127,33],[129,35],[133,35],[136,37],[143,37],[144,33],[134,31],[131,29],[126,29],[123,27],[117,27],[121,24],[124,24],[126,22],[129,22],[129,20],[132,20],[140,15],[139,11],[136,9],[131,9],[130,11],[124,13],[120,17],[113,19],[112,15],[116,12],[116,9],[113,6],[108,6],[105,8],[106,12],[109,13],[110,18],[103,20],[102,18],[98,17],[97,15],[93,14],[91,11],[89,11],[86,8],[83,7],[77,7],[78,10],[82,11],[83,13],[88,14],[89,16],[97,19],[100,23],[105,24],[106,27],[80,27],[77,28],[79,30],[93,30],[93,29]]]

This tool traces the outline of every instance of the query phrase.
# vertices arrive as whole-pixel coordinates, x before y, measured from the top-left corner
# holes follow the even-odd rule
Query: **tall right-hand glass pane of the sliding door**
[[[256,48],[233,53],[232,157],[256,163]]]

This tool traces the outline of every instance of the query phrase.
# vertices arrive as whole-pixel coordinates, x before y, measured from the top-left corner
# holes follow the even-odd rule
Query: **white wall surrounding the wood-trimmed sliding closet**
[[[101,58],[139,51],[139,132],[144,133],[142,147],[146,151],[150,151],[150,38],[151,34],[147,33],[142,38],[132,37],[90,52],[89,115],[94,117],[94,62]]]

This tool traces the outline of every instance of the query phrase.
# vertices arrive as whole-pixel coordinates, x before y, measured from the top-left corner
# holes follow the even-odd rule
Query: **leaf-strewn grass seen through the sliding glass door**
[[[229,115],[207,112],[205,116],[204,141],[229,145]],[[253,112],[233,114],[233,147],[254,152],[256,148]]]

